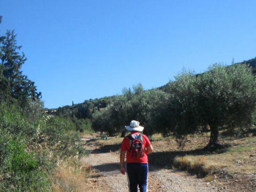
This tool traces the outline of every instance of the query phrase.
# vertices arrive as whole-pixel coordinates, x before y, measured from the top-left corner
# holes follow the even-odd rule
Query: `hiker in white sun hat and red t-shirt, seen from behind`
[[[144,129],[138,121],[131,121],[130,126],[125,126],[131,133],[127,135],[121,145],[120,165],[121,173],[127,172],[127,180],[130,192],[147,191],[148,185],[148,154],[153,147],[147,137],[142,134]],[[126,154],[126,166],[124,163]]]

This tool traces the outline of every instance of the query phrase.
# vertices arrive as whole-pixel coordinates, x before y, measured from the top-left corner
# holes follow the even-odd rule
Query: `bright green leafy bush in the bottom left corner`
[[[35,154],[26,150],[25,140],[6,130],[0,134],[0,190],[49,191],[50,180],[41,172]]]

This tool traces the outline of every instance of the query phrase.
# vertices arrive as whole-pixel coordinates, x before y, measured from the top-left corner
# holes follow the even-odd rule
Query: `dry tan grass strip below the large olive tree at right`
[[[198,143],[197,143],[198,144]],[[190,143],[193,145],[193,143]],[[252,174],[256,166],[256,137],[230,140],[230,147],[222,153],[191,154],[175,157],[174,166],[189,172],[210,174],[223,170],[230,174]],[[211,180],[209,178],[209,180]]]

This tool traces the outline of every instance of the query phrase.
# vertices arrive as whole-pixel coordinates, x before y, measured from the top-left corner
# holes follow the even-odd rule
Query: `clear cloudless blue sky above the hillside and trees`
[[[256,57],[256,1],[1,0],[45,107],[162,86]]]

